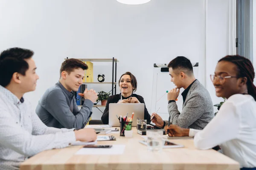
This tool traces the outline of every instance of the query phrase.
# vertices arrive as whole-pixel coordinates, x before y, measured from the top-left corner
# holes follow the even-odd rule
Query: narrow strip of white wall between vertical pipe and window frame
[[[207,5],[206,87],[213,104],[223,100],[215,96],[215,88],[209,75],[214,74],[218,60],[229,54],[229,4],[229,0],[208,0]],[[217,111],[216,107],[215,111]]]

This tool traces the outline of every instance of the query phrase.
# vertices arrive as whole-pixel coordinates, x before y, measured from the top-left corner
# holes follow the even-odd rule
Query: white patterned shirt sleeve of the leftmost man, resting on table
[[[0,109],[0,144],[17,153],[33,156],[43,150],[67,147],[69,143],[75,141],[76,136],[73,131],[32,135],[20,127],[8,111]]]

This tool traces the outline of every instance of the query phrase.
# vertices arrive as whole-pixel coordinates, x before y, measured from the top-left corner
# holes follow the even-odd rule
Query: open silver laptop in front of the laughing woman
[[[108,125],[109,126],[120,126],[119,119],[117,119],[116,115],[120,117],[120,115],[131,117],[132,112],[134,112],[134,117],[131,126],[137,126],[137,117],[140,119],[144,119],[144,103],[110,103],[108,110]]]

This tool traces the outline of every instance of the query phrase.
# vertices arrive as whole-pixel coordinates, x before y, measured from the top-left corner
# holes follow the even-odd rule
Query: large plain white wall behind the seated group
[[[214,72],[217,60],[227,55],[229,0],[206,1],[206,87],[215,104],[220,99],[215,98],[209,74]],[[115,57],[119,59],[117,77],[131,71],[137,77],[137,94],[144,97],[150,110],[153,63],[168,63],[181,55],[192,62],[201,62],[205,57],[204,3],[151,0],[129,6],[116,0],[1,0],[0,50],[21,47],[35,51],[40,79],[36,91],[26,95],[33,109],[44,91],[58,81],[65,57]],[[97,68],[101,70],[96,71]],[[98,73],[111,76],[109,69],[111,64],[96,64],[94,81]],[[200,67],[199,71],[205,72]],[[198,77],[200,81],[202,75]],[[94,88],[111,90],[110,85]],[[100,117],[95,109],[93,119]]]

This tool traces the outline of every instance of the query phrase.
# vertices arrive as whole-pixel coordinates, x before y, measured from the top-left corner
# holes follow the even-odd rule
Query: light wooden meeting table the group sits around
[[[82,146],[46,150],[24,161],[20,170],[239,170],[239,163],[215,150],[197,150],[192,139],[170,140],[184,148],[151,152],[138,141],[143,140],[133,128],[133,137],[119,134],[116,141],[98,144],[125,144],[123,155],[75,155]]]

